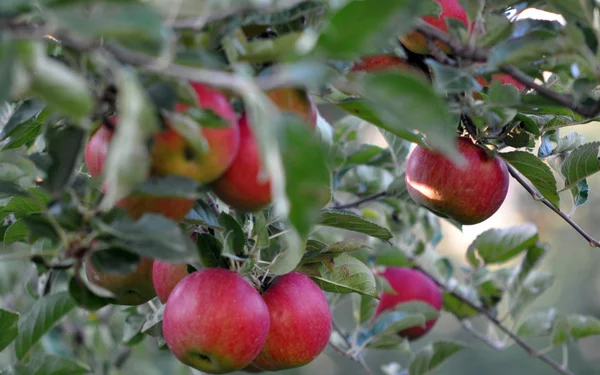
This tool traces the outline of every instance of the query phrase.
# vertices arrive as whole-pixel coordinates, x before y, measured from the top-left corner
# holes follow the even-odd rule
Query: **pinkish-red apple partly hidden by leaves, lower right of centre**
[[[380,274],[385,278],[396,294],[382,293],[373,319],[387,310],[393,309],[400,303],[421,301],[440,311],[442,309],[442,292],[440,288],[427,275],[421,271],[406,267],[388,267]],[[425,327],[410,327],[398,332],[400,336],[409,340],[417,339],[429,332],[435,325],[437,318],[425,323]]]

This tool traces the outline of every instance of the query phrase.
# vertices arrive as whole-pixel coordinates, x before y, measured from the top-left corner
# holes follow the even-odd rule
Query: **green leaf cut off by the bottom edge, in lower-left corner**
[[[88,365],[74,359],[41,354],[17,364],[14,375],[81,375],[91,371]]]

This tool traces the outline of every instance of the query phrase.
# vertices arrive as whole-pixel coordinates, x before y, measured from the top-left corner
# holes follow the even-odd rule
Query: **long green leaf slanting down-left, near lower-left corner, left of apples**
[[[17,359],[23,359],[42,336],[74,308],[75,301],[68,292],[50,294],[37,300],[19,324],[19,335],[14,345]]]

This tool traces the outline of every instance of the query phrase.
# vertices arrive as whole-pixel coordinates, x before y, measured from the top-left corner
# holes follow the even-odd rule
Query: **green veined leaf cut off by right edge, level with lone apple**
[[[570,189],[600,171],[599,147],[600,142],[586,143],[577,147],[567,156],[561,168],[561,172],[565,176],[565,187],[562,190]]]

